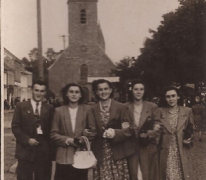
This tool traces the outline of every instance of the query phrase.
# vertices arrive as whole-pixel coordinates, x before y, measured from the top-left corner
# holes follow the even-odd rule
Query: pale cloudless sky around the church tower
[[[99,0],[98,21],[101,25],[106,53],[113,62],[124,57],[137,57],[149,29],[156,30],[162,15],[175,11],[178,0]],[[67,0],[42,0],[43,55],[48,48],[63,49],[62,35],[68,37]],[[19,59],[29,58],[37,47],[36,0],[3,1],[3,45]],[[68,39],[66,39],[68,46]]]

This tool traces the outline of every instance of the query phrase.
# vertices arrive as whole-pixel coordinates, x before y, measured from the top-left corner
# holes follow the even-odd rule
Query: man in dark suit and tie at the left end
[[[32,85],[32,99],[20,102],[14,111],[12,132],[16,137],[17,180],[50,180],[50,129],[54,109],[43,103],[47,86]]]

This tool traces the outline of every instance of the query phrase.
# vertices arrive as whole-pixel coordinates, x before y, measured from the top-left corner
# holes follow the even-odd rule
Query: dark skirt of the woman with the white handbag
[[[56,164],[55,180],[87,180],[87,169],[75,169],[72,165]]]

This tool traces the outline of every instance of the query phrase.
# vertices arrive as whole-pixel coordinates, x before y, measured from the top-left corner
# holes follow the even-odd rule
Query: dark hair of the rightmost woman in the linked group
[[[179,96],[177,104],[179,106],[183,105],[183,94],[182,94],[182,92],[174,86],[166,86],[162,90],[162,93],[161,93],[161,96],[160,96],[159,107],[168,107],[168,103],[166,101],[165,95],[166,95],[167,91],[172,91],[172,90],[176,91],[177,95]]]

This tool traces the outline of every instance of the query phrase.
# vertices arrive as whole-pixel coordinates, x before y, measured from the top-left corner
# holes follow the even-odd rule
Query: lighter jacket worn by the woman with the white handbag
[[[86,116],[90,106],[79,105],[76,116],[75,131],[72,131],[71,117],[68,106],[56,108],[51,128],[51,139],[57,145],[56,162],[59,164],[73,164],[76,146],[66,145],[68,138],[78,138],[86,127]]]

